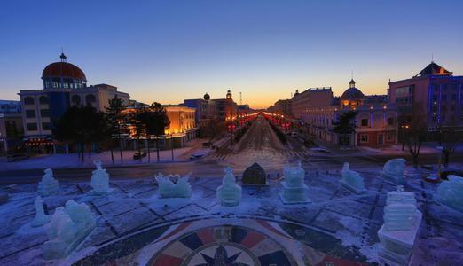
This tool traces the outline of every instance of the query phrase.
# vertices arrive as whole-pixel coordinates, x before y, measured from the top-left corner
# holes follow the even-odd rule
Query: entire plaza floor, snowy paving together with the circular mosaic
[[[355,168],[353,168],[355,169]],[[98,226],[61,261],[44,261],[43,227],[32,228],[35,184],[5,187],[0,206],[2,265],[366,265],[378,262],[377,231],[387,192],[396,185],[380,168],[359,170],[367,192],[342,188],[341,176],[326,169],[306,173],[312,203],[279,200],[279,176],[270,186],[243,187],[238,207],[221,207],[216,187],[222,176],[192,178],[191,199],[159,199],[154,179],[114,181],[114,192],[90,196],[89,182],[61,183],[43,198],[50,212],[67,200],[87,203]],[[238,176],[240,180],[240,176]],[[424,215],[411,265],[457,265],[463,260],[463,214],[435,200],[436,184],[407,168],[405,191],[415,192]],[[218,265],[218,264],[217,264]],[[327,264],[330,265],[330,264]]]

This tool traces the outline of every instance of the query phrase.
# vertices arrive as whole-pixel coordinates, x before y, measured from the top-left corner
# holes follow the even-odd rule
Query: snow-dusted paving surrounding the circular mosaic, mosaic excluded
[[[306,205],[286,206],[279,200],[282,187],[276,179],[268,187],[243,187],[238,207],[221,207],[216,200],[217,178],[192,178],[191,199],[159,199],[153,179],[111,182],[108,196],[90,196],[87,182],[62,183],[61,192],[43,200],[52,213],[67,200],[87,203],[98,217],[98,227],[66,261],[76,262],[107,243],[122,241],[147,226],[180,223],[188,219],[254,217],[279,223],[287,234],[316,250],[349,260],[375,262],[383,223],[386,194],[396,185],[379,176],[381,168],[360,169],[367,192],[355,195],[342,188],[338,174],[310,171],[306,175],[310,200]],[[406,191],[415,192],[424,218],[420,226],[412,265],[452,265],[463,260],[463,214],[434,199],[437,184],[422,181],[423,171],[407,168]],[[4,188],[10,200],[0,206],[0,264],[43,265],[43,228],[31,228],[34,219],[36,184]],[[317,237],[315,237],[317,236]],[[129,245],[129,244],[127,244]],[[334,247],[336,246],[336,247]],[[129,246],[126,246],[126,248]],[[114,251],[115,252],[115,251]],[[358,254],[357,254],[358,253]],[[364,256],[365,258],[363,258]]]

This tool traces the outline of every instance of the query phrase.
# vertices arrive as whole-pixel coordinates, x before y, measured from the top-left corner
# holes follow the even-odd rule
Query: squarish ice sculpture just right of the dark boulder
[[[286,165],[283,168],[283,174],[285,181],[281,182],[283,185],[283,193],[281,193],[280,199],[284,204],[299,204],[308,203],[309,200],[309,188],[304,184],[305,170],[301,166],[301,162],[296,167]]]

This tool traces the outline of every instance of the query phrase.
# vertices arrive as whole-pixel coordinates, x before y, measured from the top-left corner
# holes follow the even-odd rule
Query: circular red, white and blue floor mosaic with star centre
[[[294,265],[283,246],[240,226],[203,228],[169,243],[150,263],[160,265]]]

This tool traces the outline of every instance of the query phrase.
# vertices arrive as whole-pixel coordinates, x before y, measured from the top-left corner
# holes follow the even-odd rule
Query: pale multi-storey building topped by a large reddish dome
[[[69,106],[91,105],[98,111],[105,111],[109,99],[114,96],[121,98],[125,105],[129,104],[128,93],[107,84],[87,86],[83,71],[67,63],[63,53],[60,59],[43,69],[43,89],[20,90],[25,142],[33,148],[29,150],[56,152],[57,142],[51,137],[51,129]]]

